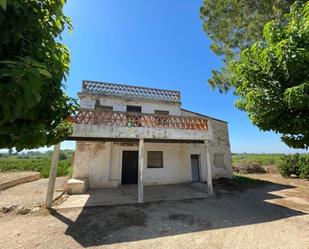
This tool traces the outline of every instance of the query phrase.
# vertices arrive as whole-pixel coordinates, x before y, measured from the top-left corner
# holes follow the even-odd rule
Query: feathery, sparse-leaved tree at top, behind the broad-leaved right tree
[[[228,64],[239,52],[263,37],[264,25],[282,19],[294,0],[204,0],[200,10],[203,29],[212,40],[211,50],[221,56],[223,66],[212,71],[209,83],[220,92],[231,86]]]

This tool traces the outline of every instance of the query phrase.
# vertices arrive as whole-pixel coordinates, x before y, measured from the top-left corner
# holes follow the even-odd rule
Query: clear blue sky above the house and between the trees
[[[202,30],[202,0],[69,0],[74,31],[67,92],[83,79],[177,89],[183,107],[228,121],[232,152],[305,152],[289,149],[272,132],[254,127],[234,107],[235,97],[212,91],[207,80],[220,60]],[[74,148],[65,142],[62,148]]]

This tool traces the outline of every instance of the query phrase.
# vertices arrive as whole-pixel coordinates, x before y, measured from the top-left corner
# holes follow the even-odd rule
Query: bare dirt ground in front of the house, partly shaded
[[[214,189],[205,199],[2,215],[1,248],[309,248],[308,188],[216,181]],[[303,205],[282,196],[289,190]]]

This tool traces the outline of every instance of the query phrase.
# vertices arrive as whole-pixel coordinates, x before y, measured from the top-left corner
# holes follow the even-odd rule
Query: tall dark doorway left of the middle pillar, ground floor
[[[123,151],[121,184],[137,184],[138,151]]]

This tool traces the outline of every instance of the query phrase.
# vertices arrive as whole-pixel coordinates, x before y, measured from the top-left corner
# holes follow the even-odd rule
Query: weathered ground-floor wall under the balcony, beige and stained
[[[73,178],[88,178],[91,188],[116,187],[121,184],[122,152],[138,151],[138,146],[103,142],[77,142]],[[147,151],[163,151],[163,168],[147,168]],[[145,143],[144,184],[191,182],[191,154],[200,155],[201,181],[206,181],[204,144]],[[213,168],[213,177],[227,175]]]

